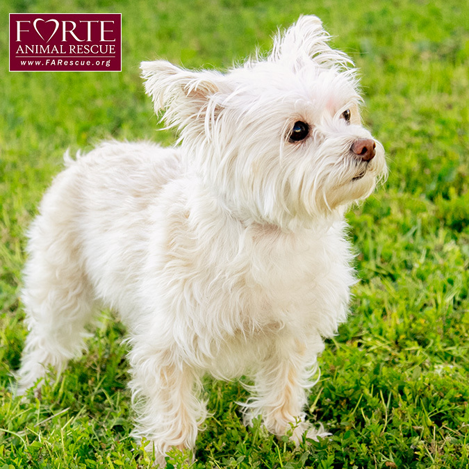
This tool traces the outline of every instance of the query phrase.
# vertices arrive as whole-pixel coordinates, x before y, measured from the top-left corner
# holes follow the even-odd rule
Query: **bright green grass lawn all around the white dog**
[[[349,213],[361,283],[329,340],[299,449],[243,427],[238,383],[206,380],[197,468],[469,467],[469,13],[459,0],[9,0],[0,6],[0,469],[146,468],[129,438],[122,325],[105,315],[42,400],[8,388],[26,336],[25,229],[64,149],[156,133],[140,60],[231,65],[315,13],[361,69],[390,176]],[[122,72],[8,72],[8,13],[122,13]],[[173,463],[181,461],[174,455]]]

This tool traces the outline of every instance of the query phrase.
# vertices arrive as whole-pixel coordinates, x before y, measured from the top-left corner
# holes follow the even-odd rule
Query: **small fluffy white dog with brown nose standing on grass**
[[[386,172],[350,59],[317,17],[222,74],[142,63],[180,145],[103,143],[72,161],[29,233],[19,392],[83,348],[97,305],[129,330],[135,436],[192,448],[201,377],[246,375],[246,422],[317,429],[304,406],[354,283],[344,213]]]

